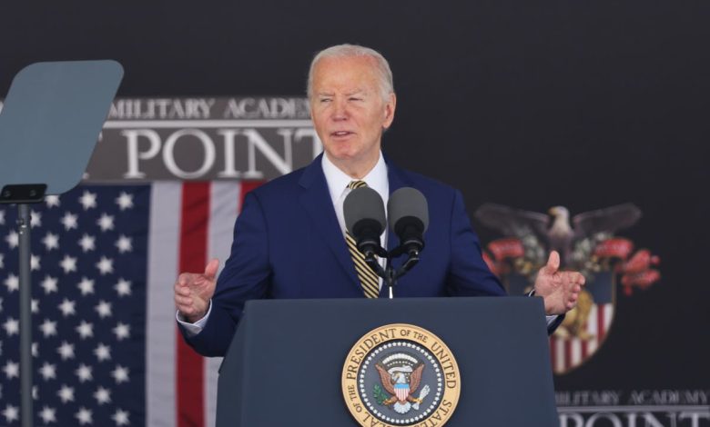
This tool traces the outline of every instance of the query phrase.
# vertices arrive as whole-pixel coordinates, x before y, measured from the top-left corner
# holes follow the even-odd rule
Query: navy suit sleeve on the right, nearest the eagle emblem
[[[451,263],[449,292],[457,296],[505,295],[501,282],[483,261],[481,243],[473,232],[463,207],[463,197],[455,190],[451,206]]]

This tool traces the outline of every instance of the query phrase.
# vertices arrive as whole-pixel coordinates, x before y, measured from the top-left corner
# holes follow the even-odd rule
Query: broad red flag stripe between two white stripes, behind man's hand
[[[205,271],[208,256],[209,183],[182,187],[180,221],[180,272]],[[205,367],[177,332],[177,427],[205,425]]]

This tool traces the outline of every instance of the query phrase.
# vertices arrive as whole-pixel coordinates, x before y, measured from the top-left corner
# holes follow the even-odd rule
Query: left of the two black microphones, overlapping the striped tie
[[[355,238],[358,250],[365,258],[380,253],[380,234],[387,227],[380,194],[370,187],[356,188],[345,197],[342,209],[345,227]]]

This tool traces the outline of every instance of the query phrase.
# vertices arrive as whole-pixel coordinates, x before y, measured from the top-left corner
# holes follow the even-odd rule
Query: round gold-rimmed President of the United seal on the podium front
[[[342,369],[342,395],[363,426],[443,425],[461,392],[459,366],[433,333],[405,323],[366,333]]]

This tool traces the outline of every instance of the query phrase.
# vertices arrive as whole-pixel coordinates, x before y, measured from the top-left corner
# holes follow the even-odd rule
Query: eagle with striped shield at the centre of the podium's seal
[[[375,368],[380,373],[382,387],[389,393],[387,397],[376,390],[375,394],[380,395],[378,402],[381,405],[391,406],[398,413],[407,413],[412,408],[419,410],[420,403],[430,391],[429,385],[424,385],[419,397],[414,397],[421,383],[424,363],[417,361],[410,354],[397,353],[375,363]]]

